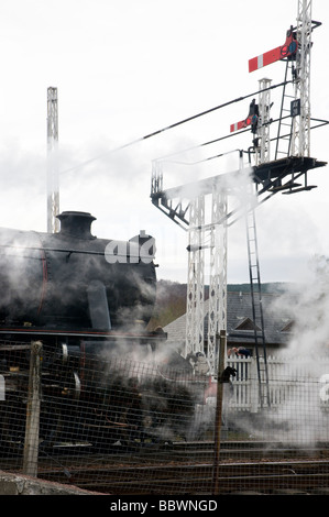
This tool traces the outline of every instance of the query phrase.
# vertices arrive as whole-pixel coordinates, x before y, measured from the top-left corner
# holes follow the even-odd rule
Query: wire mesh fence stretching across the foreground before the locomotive
[[[218,433],[216,380],[140,352],[2,343],[0,470],[107,494],[327,488],[326,359],[270,359],[265,408],[253,359],[227,360]]]

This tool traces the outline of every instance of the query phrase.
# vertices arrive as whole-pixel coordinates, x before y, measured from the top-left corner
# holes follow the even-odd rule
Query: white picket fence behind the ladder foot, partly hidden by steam
[[[260,361],[263,365],[262,358]],[[329,356],[270,356],[266,363],[270,404],[266,399],[261,404],[256,359],[228,359],[227,365],[237,370],[237,376],[231,377],[232,383],[226,388],[231,409],[257,413],[264,405],[275,409],[289,400],[299,400],[304,405],[328,405],[329,411]]]

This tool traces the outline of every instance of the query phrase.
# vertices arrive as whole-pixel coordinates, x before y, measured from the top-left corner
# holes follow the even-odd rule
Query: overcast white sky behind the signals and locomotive
[[[46,92],[54,86],[61,210],[90,211],[100,238],[144,229],[157,242],[158,277],[186,282],[187,235],[151,204],[152,161],[228,134],[250,100],[111,151],[256,91],[263,77],[281,82],[283,63],[249,74],[248,61],[282,45],[296,15],[297,0],[1,0],[0,226],[46,231]],[[322,25],[312,36],[311,116],[328,120],[328,0],[314,0],[312,19]],[[311,132],[320,161],[329,158],[328,135],[329,127]],[[206,151],[250,143],[244,133]],[[165,169],[165,188],[235,168],[230,160],[175,167]],[[328,167],[309,183],[318,188],[277,195],[257,211],[263,282],[299,280],[315,254],[329,256]],[[229,283],[249,282],[241,223],[229,230],[228,251]]]

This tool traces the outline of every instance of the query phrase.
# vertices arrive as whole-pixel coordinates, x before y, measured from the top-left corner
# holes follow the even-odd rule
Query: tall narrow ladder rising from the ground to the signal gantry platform
[[[245,215],[246,226],[246,241],[248,241],[248,256],[249,256],[249,273],[250,273],[250,287],[252,298],[252,316],[254,327],[254,340],[259,376],[259,396],[261,407],[270,407],[270,386],[268,386],[268,371],[266,359],[265,332],[264,332],[264,317],[262,306],[262,288],[261,275],[259,265],[259,251],[256,239],[256,224],[255,213],[252,208]],[[262,355],[261,355],[262,354]]]

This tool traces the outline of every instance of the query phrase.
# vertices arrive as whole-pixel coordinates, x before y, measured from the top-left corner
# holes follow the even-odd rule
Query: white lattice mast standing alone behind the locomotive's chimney
[[[57,88],[47,89],[47,232],[59,230],[58,99]]]

